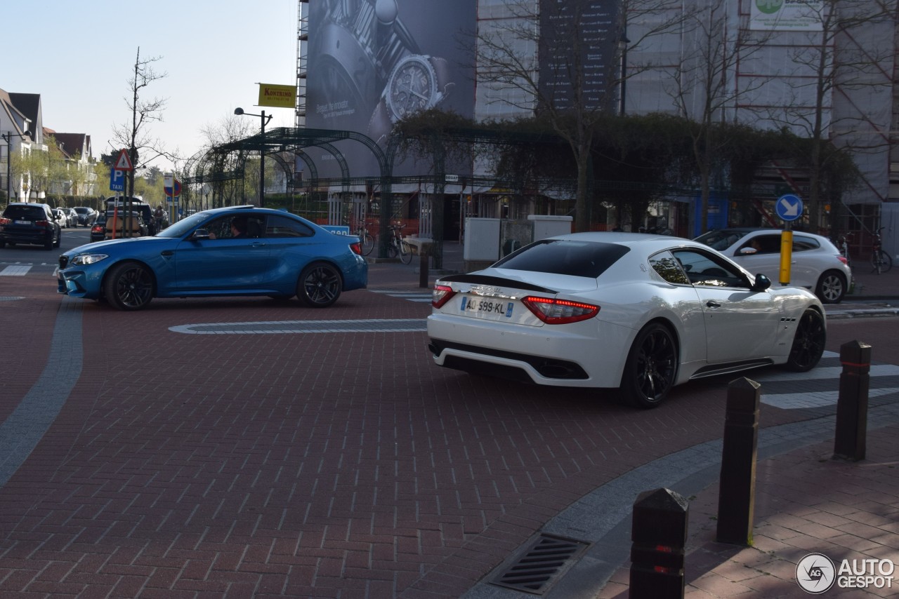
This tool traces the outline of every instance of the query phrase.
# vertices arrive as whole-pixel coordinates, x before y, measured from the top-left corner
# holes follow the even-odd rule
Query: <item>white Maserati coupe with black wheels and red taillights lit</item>
[[[713,374],[810,370],[826,340],[806,289],[771,288],[702,243],[641,233],[559,235],[441,277],[427,329],[438,366],[617,389],[642,408]]]

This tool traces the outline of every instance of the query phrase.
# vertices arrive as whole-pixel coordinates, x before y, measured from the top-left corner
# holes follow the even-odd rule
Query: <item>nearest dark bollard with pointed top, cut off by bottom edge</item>
[[[683,597],[690,503],[671,489],[644,491],[634,502],[630,599]]]

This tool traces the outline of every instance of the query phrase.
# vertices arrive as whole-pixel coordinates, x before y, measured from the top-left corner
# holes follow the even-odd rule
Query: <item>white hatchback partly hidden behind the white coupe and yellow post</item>
[[[751,272],[761,272],[775,284],[780,279],[779,229],[728,228],[699,235],[697,242]],[[824,304],[839,304],[849,292],[852,271],[846,259],[826,237],[795,231],[790,260],[791,286],[806,287]]]

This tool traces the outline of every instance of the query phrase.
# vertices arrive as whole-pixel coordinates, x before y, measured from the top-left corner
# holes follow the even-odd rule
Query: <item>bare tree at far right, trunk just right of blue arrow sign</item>
[[[828,197],[839,190],[827,189],[824,176],[835,150],[861,158],[886,153],[890,142],[896,2],[819,0],[808,6],[816,27],[779,34],[791,48],[794,69],[785,78],[784,108],[769,118],[811,141],[806,203],[816,227],[823,204],[839,200]],[[869,183],[864,192],[886,195],[875,188]]]

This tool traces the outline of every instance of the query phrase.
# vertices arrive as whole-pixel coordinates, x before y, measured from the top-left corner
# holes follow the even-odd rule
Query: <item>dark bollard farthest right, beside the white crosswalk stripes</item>
[[[840,395],[833,439],[833,459],[865,459],[868,442],[868,383],[871,346],[850,341],[840,346]]]

